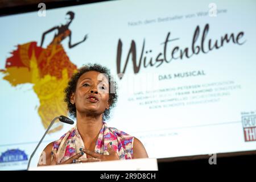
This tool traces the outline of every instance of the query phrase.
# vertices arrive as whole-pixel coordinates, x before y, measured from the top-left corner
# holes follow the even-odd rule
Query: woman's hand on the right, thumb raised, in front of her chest
[[[100,161],[108,161],[108,160],[120,160],[117,152],[115,152],[112,148],[112,142],[109,142],[108,144],[108,152],[109,155],[102,155],[98,154],[96,152],[83,149],[85,154],[92,156],[93,158],[99,159]]]

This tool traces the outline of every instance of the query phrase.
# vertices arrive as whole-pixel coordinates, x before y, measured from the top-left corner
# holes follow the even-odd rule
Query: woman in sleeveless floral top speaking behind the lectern
[[[64,101],[77,124],[44,148],[46,164],[38,166],[148,158],[137,138],[106,125],[117,102],[116,82],[110,78],[109,69],[98,64],[88,64],[72,76]]]

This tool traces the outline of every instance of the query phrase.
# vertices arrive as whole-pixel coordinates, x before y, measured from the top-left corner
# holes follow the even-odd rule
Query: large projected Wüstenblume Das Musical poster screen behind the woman
[[[150,158],[255,150],[255,10],[112,1],[2,16],[0,169],[26,169],[52,119],[67,115],[63,89],[86,63],[110,68],[119,98],[108,125]],[[57,122],[31,166],[71,127]]]

